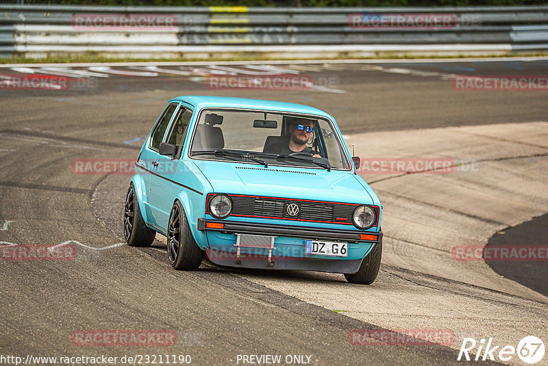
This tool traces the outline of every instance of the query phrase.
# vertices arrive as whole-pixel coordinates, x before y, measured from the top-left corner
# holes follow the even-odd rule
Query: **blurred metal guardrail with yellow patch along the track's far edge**
[[[0,5],[0,55],[171,58],[548,49],[548,6],[158,8]]]

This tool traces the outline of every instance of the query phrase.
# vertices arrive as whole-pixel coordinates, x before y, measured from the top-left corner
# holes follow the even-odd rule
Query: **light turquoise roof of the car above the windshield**
[[[234,97],[214,97],[210,95],[184,95],[181,97],[175,97],[170,100],[173,101],[185,101],[191,106],[202,108],[245,108],[245,109],[258,109],[258,110],[275,110],[279,112],[294,112],[305,114],[316,114],[319,116],[329,117],[333,119],[329,114],[319,110],[318,108],[305,106],[297,103],[286,103],[283,101],[270,101],[262,99],[247,99],[247,98],[234,98]]]

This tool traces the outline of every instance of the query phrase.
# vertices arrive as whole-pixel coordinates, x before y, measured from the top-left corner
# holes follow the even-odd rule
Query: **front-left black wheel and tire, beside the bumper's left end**
[[[175,202],[169,215],[167,253],[171,267],[184,271],[198,269],[203,259],[204,252],[190,232],[183,205],[179,201]]]

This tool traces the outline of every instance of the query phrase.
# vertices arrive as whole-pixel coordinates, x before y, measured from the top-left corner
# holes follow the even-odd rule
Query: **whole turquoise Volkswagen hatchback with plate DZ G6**
[[[371,284],[382,256],[377,195],[333,117],[278,101],[171,99],[136,160],[124,236],[167,237],[169,263],[345,273]]]

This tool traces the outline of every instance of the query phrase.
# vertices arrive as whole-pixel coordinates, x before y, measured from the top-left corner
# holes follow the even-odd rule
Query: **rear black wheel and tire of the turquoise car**
[[[132,247],[150,247],[156,236],[156,232],[142,219],[133,183],[129,184],[125,196],[123,229],[125,242]]]

